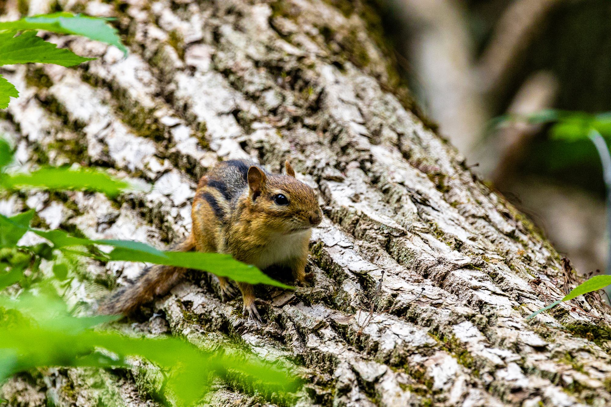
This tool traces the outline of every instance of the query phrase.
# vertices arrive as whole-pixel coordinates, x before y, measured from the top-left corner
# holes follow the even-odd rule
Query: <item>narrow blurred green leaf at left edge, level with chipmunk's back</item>
[[[48,190],[87,190],[103,192],[112,197],[128,189],[130,184],[90,168],[74,170],[45,167],[29,174],[0,176],[0,187],[5,189],[34,187]]]

